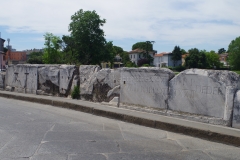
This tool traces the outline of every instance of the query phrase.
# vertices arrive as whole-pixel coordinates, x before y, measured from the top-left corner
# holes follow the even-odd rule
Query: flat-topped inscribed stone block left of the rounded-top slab
[[[120,102],[153,108],[167,108],[168,82],[174,77],[169,69],[122,68]]]

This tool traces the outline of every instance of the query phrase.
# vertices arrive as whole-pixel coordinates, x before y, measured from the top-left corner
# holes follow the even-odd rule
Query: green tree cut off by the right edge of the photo
[[[240,70],[240,36],[228,46],[228,63],[234,70]]]

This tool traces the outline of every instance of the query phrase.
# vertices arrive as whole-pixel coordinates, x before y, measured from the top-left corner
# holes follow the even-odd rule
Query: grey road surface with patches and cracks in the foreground
[[[240,148],[97,117],[0,98],[0,159],[221,160]]]

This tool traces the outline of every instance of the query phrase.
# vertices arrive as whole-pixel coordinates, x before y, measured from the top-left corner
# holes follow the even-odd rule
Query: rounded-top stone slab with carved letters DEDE
[[[169,83],[169,109],[230,121],[239,79],[230,71],[185,70]]]

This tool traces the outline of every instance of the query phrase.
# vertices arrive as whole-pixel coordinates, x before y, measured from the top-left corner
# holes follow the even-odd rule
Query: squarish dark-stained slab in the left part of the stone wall
[[[60,65],[46,65],[38,68],[39,90],[38,93],[59,94]]]

